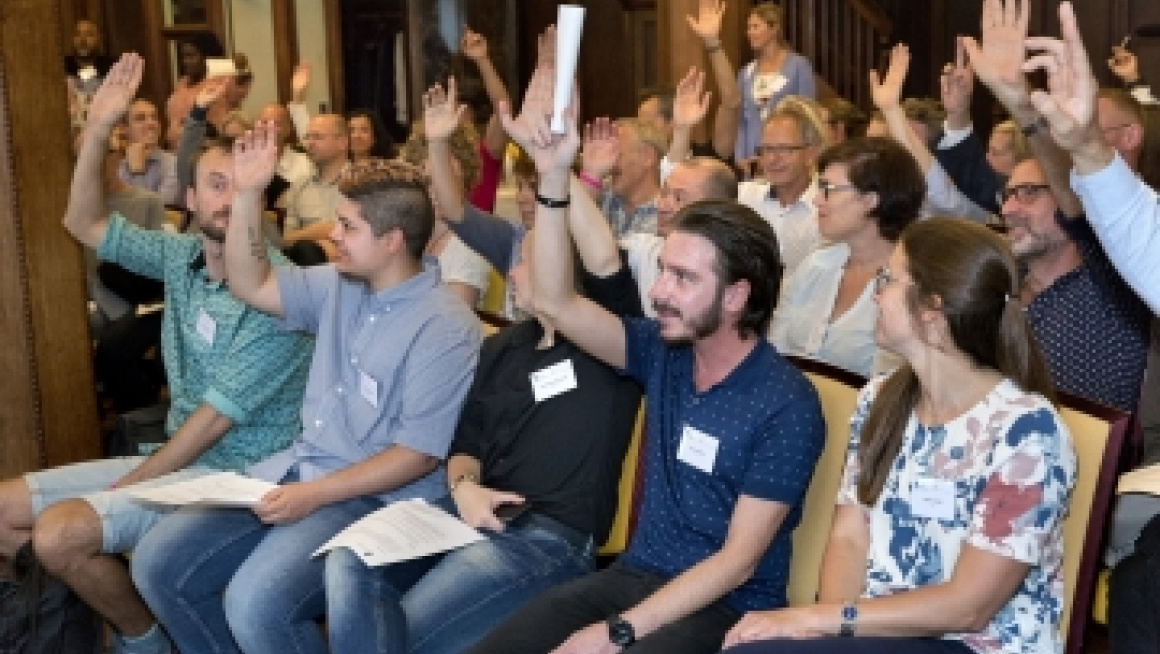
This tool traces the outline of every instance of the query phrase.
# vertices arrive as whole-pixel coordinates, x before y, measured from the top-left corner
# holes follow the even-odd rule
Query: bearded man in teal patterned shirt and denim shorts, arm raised
[[[107,213],[101,166],[114,125],[140,83],[126,54],[93,96],[65,213],[65,227],[97,256],[165,283],[161,356],[172,405],[169,439],[147,457],[103,459],[0,482],[0,553],[31,540],[44,566],[108,619],[119,651],[171,652],[117,557],[166,513],[125,487],[240,471],[297,434],[310,339],[282,332],[226,290],[223,240],[233,201],[233,162],[222,145],[196,164],[186,199],[202,235],[145,231]],[[269,256],[284,260],[270,250]]]

